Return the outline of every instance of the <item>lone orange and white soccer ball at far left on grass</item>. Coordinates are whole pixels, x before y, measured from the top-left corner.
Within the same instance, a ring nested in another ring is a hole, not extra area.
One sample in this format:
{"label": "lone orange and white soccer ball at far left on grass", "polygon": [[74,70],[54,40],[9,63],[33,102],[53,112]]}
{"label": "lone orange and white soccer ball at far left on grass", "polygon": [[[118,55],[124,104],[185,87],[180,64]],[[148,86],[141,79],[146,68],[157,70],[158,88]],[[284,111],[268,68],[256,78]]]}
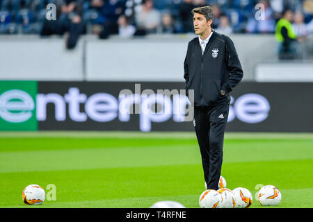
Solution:
{"label": "lone orange and white soccer ball at far left on grass", "polygon": [[41,205],[45,198],[45,190],[39,185],[29,185],[22,192],[22,200],[26,205]]}

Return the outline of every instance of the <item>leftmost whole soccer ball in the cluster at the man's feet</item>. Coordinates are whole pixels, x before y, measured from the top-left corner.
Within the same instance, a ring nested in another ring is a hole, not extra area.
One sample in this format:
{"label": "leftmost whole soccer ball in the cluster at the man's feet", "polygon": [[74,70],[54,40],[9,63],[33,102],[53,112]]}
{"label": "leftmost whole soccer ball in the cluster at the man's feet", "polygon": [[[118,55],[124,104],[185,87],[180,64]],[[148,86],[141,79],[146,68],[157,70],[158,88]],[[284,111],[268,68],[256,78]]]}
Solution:
{"label": "leftmost whole soccer ball in the cluster at the man's feet", "polygon": [[221,202],[222,196],[214,189],[203,191],[199,198],[201,208],[218,208]]}

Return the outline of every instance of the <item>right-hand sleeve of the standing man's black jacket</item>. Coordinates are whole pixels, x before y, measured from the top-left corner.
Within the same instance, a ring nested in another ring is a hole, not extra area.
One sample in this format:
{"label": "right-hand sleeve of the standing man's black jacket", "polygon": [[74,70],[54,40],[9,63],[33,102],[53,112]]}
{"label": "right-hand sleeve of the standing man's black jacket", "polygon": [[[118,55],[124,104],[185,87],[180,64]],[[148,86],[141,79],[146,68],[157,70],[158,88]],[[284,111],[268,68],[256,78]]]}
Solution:
{"label": "right-hand sleeve of the standing man's black jacket", "polygon": [[230,78],[227,78],[221,89],[224,89],[225,92],[228,93],[231,92],[232,89],[234,89],[234,87],[238,85],[243,78],[243,70],[238,58],[238,54],[236,53],[234,43],[230,37],[226,37],[225,44],[227,48],[226,63],[227,69],[230,71]]}

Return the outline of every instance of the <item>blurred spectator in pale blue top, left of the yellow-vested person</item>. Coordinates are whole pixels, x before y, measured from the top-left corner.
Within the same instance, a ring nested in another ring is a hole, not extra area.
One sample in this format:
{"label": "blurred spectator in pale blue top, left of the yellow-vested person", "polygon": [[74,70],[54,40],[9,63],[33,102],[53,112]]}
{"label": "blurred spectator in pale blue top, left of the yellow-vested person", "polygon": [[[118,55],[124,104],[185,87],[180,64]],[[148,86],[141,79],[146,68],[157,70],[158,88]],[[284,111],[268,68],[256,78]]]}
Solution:
{"label": "blurred spectator in pale blue top, left of the yellow-vested person", "polygon": [[273,11],[268,6],[268,1],[259,1],[264,5],[264,19],[255,19],[255,12],[252,13],[251,17],[248,19],[248,24],[246,26],[247,33],[274,33],[275,31],[275,20],[273,19]]}

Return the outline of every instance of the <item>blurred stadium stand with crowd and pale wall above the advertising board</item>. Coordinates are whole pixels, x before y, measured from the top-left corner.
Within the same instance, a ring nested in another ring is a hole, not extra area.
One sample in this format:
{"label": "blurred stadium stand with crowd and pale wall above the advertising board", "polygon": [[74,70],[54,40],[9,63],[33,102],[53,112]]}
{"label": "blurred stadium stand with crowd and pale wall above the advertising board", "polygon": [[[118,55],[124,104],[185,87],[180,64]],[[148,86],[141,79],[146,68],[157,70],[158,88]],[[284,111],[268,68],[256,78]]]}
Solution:
{"label": "blurred stadium stand with crowd and pale wall above the advertising board", "polygon": [[[55,21],[46,19],[49,3],[56,5]],[[265,6],[264,21],[255,19],[257,3]],[[205,5],[214,10],[216,31],[231,35],[243,80],[281,76],[268,67],[286,62],[312,76],[312,66],[303,65],[313,60],[312,0],[0,0],[0,79],[182,80],[186,44],[194,37],[191,9]],[[293,25],[304,39],[293,61],[278,59],[274,35],[286,8],[300,14]],[[125,74],[131,65],[134,73]]]}

